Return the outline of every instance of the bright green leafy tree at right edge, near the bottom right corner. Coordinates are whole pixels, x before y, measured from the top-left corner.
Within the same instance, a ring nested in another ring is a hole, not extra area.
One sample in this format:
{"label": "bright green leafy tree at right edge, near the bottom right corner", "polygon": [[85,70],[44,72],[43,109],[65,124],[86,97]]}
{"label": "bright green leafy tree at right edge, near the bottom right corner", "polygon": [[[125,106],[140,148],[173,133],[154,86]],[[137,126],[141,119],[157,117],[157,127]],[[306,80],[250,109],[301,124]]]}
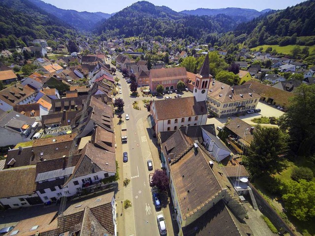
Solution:
{"label": "bright green leafy tree at right edge, near the bottom right corner", "polygon": [[283,184],[285,209],[298,220],[307,221],[315,217],[315,183],[301,179],[287,180]]}

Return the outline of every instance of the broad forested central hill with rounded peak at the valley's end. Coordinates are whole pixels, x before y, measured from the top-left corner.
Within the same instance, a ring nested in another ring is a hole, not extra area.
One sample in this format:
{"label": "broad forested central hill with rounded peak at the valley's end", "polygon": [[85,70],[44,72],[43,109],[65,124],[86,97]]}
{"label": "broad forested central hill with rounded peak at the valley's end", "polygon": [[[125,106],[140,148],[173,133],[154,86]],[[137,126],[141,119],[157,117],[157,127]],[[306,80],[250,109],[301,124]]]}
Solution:
{"label": "broad forested central hill with rounded peak at the valley's end", "polygon": [[[139,1],[117,12],[97,27],[97,33],[111,36],[167,36],[207,38],[211,33],[234,30],[243,17],[193,16],[178,13],[166,6]],[[207,40],[206,40],[207,41]],[[208,40],[209,41],[209,40]]]}

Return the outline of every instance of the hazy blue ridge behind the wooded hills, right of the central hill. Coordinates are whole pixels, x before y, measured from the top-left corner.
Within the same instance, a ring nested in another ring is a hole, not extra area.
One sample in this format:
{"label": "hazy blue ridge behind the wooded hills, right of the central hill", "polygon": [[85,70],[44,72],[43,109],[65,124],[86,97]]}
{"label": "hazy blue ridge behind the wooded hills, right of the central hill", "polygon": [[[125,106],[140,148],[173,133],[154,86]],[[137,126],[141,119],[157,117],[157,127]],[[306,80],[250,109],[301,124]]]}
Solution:
{"label": "hazy blue ridge behind the wooded hills, right of the central hill", "polygon": [[246,18],[247,21],[252,20],[255,17],[258,17],[271,9],[265,9],[262,11],[257,11],[254,9],[247,8],[238,8],[238,7],[227,7],[227,8],[219,8],[219,9],[208,9],[208,8],[197,8],[195,10],[184,10],[181,13],[188,15],[196,15],[196,16],[215,16],[219,14],[225,14],[228,16],[242,16]]}

